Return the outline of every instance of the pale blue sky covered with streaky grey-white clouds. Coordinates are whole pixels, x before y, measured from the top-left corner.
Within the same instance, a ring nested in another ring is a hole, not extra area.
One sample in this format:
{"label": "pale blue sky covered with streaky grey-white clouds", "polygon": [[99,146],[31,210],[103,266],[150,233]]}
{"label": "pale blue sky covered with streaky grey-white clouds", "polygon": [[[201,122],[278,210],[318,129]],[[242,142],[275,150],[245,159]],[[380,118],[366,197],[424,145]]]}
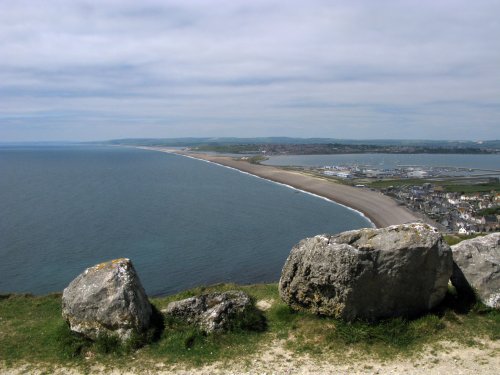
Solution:
{"label": "pale blue sky covered with streaky grey-white clouds", "polygon": [[0,0],[0,142],[500,139],[498,0]]}

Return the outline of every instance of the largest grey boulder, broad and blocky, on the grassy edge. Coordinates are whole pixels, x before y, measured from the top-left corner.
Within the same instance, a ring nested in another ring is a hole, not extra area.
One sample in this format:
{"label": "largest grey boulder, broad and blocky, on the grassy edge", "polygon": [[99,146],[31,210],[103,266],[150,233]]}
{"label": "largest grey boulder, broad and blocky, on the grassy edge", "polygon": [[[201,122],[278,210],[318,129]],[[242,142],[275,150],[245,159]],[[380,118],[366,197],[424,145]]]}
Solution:
{"label": "largest grey boulder, broad and blocky, on the grassy edge", "polygon": [[415,316],[441,302],[451,272],[451,249],[435,228],[394,225],[302,240],[279,291],[292,308],[346,320]]}

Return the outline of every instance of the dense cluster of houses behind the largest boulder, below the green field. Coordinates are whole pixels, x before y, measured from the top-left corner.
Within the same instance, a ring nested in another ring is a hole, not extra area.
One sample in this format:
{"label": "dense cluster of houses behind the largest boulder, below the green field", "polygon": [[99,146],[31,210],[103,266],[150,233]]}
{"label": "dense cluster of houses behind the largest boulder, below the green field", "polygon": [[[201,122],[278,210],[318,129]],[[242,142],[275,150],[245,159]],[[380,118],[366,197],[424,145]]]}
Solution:
{"label": "dense cluster of houses behind the largest boulder, below the green field", "polygon": [[419,211],[450,232],[472,234],[500,231],[500,193],[446,192],[442,186],[390,186],[382,189],[414,211]]}

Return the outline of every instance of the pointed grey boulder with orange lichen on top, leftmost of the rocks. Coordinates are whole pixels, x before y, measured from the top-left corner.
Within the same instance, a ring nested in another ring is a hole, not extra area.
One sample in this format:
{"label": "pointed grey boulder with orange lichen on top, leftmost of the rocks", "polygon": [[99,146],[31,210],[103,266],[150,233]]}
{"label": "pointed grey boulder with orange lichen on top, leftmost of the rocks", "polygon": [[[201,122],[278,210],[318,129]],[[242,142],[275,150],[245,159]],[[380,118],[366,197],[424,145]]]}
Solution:
{"label": "pointed grey boulder with orange lichen on top, leftmost of the rocks", "polygon": [[72,331],[91,339],[101,334],[125,340],[150,324],[151,305],[129,259],[87,268],[66,289],[62,315]]}

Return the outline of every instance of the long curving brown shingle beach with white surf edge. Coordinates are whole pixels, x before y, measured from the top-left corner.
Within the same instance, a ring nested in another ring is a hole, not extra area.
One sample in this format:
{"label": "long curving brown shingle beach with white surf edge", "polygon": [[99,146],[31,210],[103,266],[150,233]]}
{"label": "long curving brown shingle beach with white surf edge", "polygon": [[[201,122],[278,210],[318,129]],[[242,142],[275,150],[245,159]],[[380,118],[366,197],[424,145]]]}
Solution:
{"label": "long curving brown shingle beach with white surf edge", "polygon": [[191,157],[224,167],[236,169],[272,182],[326,198],[365,216],[376,227],[386,227],[395,224],[421,221],[421,218],[398,205],[382,193],[365,188],[337,184],[318,177],[308,176],[300,172],[287,171],[276,167],[251,164],[246,161],[234,160],[229,156],[189,153],[162,147],[137,147],[144,150],[173,153]]}

